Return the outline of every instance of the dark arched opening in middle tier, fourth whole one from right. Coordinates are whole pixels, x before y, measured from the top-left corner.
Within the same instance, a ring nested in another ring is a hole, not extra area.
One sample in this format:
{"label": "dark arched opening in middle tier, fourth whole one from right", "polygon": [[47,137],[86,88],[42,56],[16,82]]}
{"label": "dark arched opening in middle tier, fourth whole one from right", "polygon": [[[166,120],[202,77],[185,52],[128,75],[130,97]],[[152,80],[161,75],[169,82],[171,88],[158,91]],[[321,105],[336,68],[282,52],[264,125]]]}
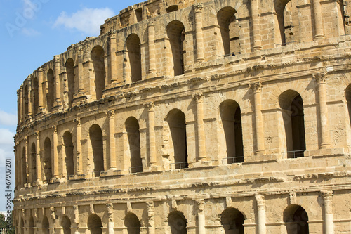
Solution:
{"label": "dark arched opening in middle tier, fourth whole one from right", "polygon": [[140,157],[140,131],[139,123],[135,117],[126,120],[129,152],[131,154],[131,173],[142,172],[143,164]]}

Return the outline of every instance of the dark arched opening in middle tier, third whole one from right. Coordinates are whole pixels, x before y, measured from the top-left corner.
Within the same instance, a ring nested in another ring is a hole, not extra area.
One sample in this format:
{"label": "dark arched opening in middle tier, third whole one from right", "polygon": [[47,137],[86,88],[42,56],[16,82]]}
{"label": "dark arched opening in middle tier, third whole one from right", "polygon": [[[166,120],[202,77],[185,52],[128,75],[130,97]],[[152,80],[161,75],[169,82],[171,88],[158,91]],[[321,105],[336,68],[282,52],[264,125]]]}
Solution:
{"label": "dark arched opening in middle tier, third whole one from right", "polygon": [[187,168],[187,130],[185,114],[179,109],[173,109],[168,112],[166,121],[171,131],[175,168]]}

